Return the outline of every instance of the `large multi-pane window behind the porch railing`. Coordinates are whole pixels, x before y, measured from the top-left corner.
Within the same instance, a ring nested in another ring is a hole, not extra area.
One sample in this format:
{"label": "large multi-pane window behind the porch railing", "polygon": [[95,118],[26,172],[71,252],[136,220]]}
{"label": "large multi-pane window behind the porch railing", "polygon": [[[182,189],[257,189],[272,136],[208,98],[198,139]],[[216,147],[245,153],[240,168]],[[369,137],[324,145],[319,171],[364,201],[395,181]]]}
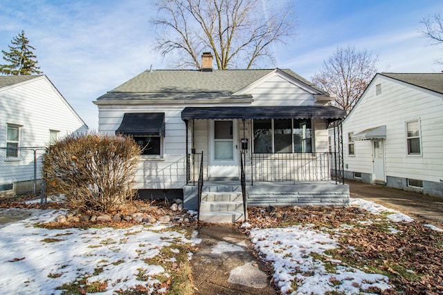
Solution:
{"label": "large multi-pane window behind the porch railing", "polygon": [[311,120],[253,120],[254,153],[312,153]]}

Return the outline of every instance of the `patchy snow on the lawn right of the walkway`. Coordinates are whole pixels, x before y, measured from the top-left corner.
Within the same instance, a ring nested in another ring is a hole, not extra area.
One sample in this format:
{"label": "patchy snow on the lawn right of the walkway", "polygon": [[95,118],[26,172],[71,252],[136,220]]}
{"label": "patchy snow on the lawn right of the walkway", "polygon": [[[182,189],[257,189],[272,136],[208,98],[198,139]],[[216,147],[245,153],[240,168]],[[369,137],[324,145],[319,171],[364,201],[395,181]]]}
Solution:
{"label": "patchy snow on the lawn right of the walkway", "polygon": [[[386,218],[392,222],[413,221],[399,211],[368,200],[352,198],[350,204],[374,214],[388,213]],[[341,228],[346,226],[342,225]],[[379,287],[381,290],[392,287],[387,276],[366,274],[359,269],[345,267],[341,265],[341,261],[328,257],[325,251],[337,247],[330,231],[314,230],[311,225],[251,229],[247,222],[240,227],[249,229],[255,250],[260,251],[260,256],[273,265],[273,280],[283,294],[364,294],[361,290],[370,287]],[[398,231],[392,228],[390,232],[396,234]],[[318,259],[320,256],[323,257],[321,260]],[[330,267],[334,268],[332,272]]]}

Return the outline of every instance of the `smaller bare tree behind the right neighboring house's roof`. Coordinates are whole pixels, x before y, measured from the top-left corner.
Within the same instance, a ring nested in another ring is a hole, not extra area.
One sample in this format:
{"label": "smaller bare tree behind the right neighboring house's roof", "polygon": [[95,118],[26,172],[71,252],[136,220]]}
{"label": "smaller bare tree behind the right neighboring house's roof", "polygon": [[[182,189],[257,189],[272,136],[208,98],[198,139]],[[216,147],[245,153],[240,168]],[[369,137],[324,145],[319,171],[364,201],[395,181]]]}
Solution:
{"label": "smaller bare tree behind the right neighboring house's roof", "polygon": [[333,106],[349,113],[366,86],[377,73],[379,56],[368,50],[357,51],[354,46],[338,47],[323,68],[311,79],[328,93],[336,96]]}

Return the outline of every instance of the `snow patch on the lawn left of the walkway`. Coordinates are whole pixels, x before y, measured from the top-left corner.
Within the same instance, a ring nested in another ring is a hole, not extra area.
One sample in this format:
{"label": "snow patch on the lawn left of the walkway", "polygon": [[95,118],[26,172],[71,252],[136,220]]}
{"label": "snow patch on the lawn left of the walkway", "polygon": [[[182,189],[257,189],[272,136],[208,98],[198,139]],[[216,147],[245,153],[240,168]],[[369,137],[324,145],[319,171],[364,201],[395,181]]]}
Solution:
{"label": "snow patch on the lawn left of the walkway", "polygon": [[[195,242],[183,233],[165,230],[165,225],[126,229],[34,226],[36,222],[52,221],[58,214],[60,211],[42,212],[0,229],[2,294],[61,294],[63,290],[57,287],[85,277],[88,282],[107,281],[107,292],[100,294],[156,283],[152,276],[165,274],[165,269],[147,265],[143,260],[156,256],[162,247],[172,243]],[[150,278],[137,280],[141,272]]]}

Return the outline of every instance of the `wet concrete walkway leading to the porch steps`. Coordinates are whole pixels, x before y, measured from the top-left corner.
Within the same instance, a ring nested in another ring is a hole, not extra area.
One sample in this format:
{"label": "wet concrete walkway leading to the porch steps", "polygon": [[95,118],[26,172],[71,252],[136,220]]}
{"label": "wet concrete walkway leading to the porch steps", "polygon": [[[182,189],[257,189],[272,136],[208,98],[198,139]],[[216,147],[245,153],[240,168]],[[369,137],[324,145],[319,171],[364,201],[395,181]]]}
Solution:
{"label": "wet concrete walkway leading to the porch steps", "polygon": [[198,238],[191,260],[196,294],[277,294],[237,225],[203,227]]}

